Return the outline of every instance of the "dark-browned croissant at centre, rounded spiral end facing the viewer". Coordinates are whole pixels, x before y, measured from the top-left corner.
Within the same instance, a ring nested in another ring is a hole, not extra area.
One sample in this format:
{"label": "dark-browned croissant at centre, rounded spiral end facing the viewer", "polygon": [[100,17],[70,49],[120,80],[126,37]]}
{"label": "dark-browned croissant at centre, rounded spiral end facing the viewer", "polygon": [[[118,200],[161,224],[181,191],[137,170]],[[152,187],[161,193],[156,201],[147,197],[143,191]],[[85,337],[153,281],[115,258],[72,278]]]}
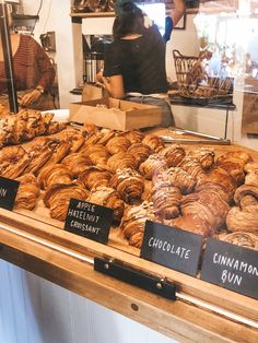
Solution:
{"label": "dark-browned croissant at centre, rounded spiral end facing the viewer", "polygon": [[133,204],[141,200],[144,191],[144,178],[134,169],[117,169],[110,179],[110,187],[118,191],[124,201]]}

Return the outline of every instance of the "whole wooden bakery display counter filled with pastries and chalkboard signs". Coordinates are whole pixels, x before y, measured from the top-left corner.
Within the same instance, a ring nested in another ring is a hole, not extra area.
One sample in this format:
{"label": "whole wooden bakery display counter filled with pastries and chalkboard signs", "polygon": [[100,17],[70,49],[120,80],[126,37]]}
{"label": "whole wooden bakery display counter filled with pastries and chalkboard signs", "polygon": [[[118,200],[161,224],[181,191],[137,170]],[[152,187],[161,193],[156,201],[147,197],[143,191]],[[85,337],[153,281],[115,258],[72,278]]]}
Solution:
{"label": "whole wooden bakery display counter filled with pastries and chalkboard signs", "polygon": [[257,342],[256,150],[4,108],[0,145],[1,259],[179,342]]}

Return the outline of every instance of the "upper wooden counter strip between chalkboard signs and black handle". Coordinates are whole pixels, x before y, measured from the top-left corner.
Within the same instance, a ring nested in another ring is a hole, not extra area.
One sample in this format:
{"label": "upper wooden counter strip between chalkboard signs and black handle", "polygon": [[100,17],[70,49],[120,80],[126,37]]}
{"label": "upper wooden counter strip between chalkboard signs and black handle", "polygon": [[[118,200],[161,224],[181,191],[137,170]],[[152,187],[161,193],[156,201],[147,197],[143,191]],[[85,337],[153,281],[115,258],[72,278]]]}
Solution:
{"label": "upper wooden counter strip between chalkboard signs and black handle", "polygon": [[127,265],[140,269],[143,272],[160,277],[167,277],[175,282],[178,289],[187,295],[214,306],[220,306],[225,310],[244,316],[250,320],[257,320],[258,318],[258,301],[253,298],[188,276],[163,265],[149,262],[126,251],[70,234],[51,225],[25,217],[24,215],[12,213],[12,216],[10,216],[10,211],[3,209],[0,209],[0,222],[19,228],[21,232],[35,235],[35,237],[42,237],[50,243],[58,244],[72,251],[78,251],[89,257],[112,258],[117,261],[126,262]]}

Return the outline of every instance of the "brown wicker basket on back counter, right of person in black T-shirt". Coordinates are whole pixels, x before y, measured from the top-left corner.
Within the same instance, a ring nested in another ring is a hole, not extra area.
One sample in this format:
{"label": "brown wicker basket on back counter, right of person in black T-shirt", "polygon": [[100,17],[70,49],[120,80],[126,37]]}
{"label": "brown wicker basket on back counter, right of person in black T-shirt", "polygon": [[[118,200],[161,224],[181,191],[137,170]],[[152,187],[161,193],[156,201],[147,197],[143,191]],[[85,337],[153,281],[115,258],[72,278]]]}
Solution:
{"label": "brown wicker basket on back counter, right of person in black T-shirt", "polygon": [[200,57],[184,56],[173,50],[179,95],[189,98],[214,98],[227,96],[232,88],[232,78],[210,78]]}

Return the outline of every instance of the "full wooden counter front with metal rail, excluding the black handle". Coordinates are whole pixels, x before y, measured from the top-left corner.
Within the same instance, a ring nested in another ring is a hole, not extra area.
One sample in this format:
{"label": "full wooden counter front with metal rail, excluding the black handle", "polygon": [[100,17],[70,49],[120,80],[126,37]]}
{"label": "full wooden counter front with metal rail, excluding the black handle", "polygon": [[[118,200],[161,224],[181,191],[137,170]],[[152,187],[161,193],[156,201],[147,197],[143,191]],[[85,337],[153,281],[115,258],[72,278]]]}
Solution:
{"label": "full wooden counter front with metal rail, excluding the black handle", "polygon": [[[251,155],[258,161],[257,152]],[[177,299],[94,271],[94,257],[166,277],[176,284]],[[26,212],[0,209],[0,258],[180,342],[258,342],[257,300],[143,260],[130,249],[64,232]]]}

